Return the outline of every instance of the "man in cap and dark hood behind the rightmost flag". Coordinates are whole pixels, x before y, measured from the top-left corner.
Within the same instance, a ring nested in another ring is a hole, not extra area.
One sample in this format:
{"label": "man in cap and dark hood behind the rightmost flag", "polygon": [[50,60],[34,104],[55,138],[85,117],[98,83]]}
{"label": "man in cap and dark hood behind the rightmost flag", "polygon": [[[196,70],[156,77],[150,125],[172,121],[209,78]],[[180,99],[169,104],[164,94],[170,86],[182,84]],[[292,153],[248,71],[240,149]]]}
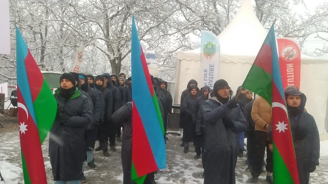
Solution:
{"label": "man in cap and dark hood behind the rightmost flag", "polygon": [[[309,184],[310,173],[316,170],[320,157],[320,137],[313,116],[304,111],[306,96],[295,88],[285,89],[290,130],[293,136],[300,184]],[[275,124],[275,122],[273,122]],[[272,150],[272,125],[269,129]]]}

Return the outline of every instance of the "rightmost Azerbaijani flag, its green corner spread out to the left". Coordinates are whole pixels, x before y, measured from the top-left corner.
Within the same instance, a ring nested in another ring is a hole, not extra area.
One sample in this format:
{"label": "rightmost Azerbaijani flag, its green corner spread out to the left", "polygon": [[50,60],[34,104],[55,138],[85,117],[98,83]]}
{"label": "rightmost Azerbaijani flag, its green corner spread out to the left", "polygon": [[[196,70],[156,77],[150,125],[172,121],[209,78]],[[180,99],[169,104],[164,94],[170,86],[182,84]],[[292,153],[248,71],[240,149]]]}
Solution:
{"label": "rightmost Azerbaijani flag, its green corner spread out to the left", "polygon": [[274,25],[271,26],[242,87],[255,92],[272,104],[274,183],[299,184]]}

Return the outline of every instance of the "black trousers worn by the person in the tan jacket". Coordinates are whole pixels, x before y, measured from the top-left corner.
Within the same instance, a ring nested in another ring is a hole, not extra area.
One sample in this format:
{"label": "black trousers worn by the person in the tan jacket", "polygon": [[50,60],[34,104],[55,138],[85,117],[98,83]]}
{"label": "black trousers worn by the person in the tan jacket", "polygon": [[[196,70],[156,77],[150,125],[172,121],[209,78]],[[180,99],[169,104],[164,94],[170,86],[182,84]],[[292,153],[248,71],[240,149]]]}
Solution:
{"label": "black trousers worn by the person in the tan jacket", "polygon": [[252,175],[260,176],[262,173],[262,160],[264,158],[265,148],[267,150],[267,165],[266,171],[271,172],[273,170],[272,152],[269,149],[268,133],[263,131],[255,131],[255,151],[252,164]]}

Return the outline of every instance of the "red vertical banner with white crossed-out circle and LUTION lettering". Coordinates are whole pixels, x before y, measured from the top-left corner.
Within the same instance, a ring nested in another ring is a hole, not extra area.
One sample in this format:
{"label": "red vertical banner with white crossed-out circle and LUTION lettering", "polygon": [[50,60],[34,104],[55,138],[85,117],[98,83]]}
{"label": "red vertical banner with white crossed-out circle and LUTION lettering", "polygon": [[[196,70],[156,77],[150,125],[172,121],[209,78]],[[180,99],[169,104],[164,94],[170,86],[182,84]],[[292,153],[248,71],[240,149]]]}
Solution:
{"label": "red vertical banner with white crossed-out circle and LUTION lettering", "polygon": [[296,86],[301,78],[301,52],[298,44],[287,38],[277,38],[282,86]]}

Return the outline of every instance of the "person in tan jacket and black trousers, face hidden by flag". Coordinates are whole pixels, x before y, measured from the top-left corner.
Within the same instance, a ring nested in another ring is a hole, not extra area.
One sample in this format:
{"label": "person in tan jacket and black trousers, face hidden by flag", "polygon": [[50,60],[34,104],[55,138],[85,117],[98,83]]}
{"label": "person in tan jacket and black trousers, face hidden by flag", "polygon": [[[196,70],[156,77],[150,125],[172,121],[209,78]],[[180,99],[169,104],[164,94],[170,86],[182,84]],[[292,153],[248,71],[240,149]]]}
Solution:
{"label": "person in tan jacket and black trousers, face hidden by flag", "polygon": [[272,151],[269,149],[268,131],[271,122],[272,108],[271,105],[262,97],[254,100],[251,116],[255,122],[255,150],[252,165],[252,183],[257,183],[258,176],[262,173],[262,160],[264,158],[265,148],[267,150],[266,180],[273,184],[272,170],[273,160]]}

